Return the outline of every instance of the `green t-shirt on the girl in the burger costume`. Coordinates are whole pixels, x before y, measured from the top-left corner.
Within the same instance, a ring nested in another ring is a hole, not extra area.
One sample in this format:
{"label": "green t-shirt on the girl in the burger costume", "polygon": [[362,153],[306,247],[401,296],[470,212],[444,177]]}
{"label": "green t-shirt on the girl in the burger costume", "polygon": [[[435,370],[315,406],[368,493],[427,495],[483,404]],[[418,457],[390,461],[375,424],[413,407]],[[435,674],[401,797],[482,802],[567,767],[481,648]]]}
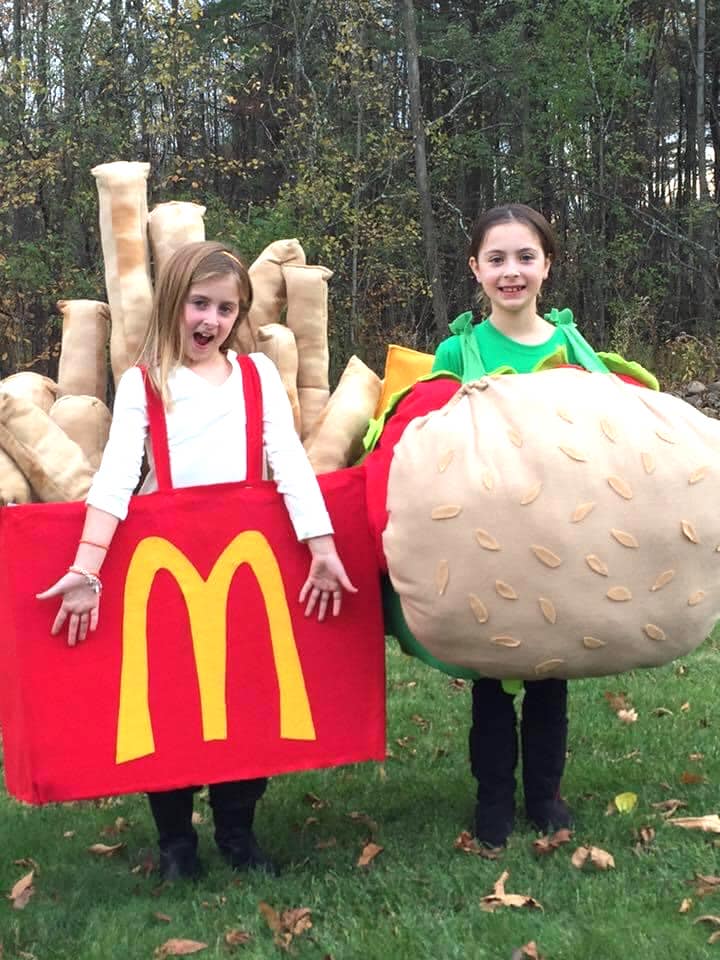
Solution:
{"label": "green t-shirt on the girl in the burger costume", "polygon": [[[472,335],[488,373],[499,367],[512,367],[515,373],[532,373],[539,363],[563,347],[567,350],[567,362],[578,362],[572,347],[568,345],[562,330],[557,326],[544,343],[532,346],[506,337],[488,319],[474,324]],[[447,370],[465,379],[464,367],[460,337],[453,336],[443,340],[435,354],[433,373]]]}

